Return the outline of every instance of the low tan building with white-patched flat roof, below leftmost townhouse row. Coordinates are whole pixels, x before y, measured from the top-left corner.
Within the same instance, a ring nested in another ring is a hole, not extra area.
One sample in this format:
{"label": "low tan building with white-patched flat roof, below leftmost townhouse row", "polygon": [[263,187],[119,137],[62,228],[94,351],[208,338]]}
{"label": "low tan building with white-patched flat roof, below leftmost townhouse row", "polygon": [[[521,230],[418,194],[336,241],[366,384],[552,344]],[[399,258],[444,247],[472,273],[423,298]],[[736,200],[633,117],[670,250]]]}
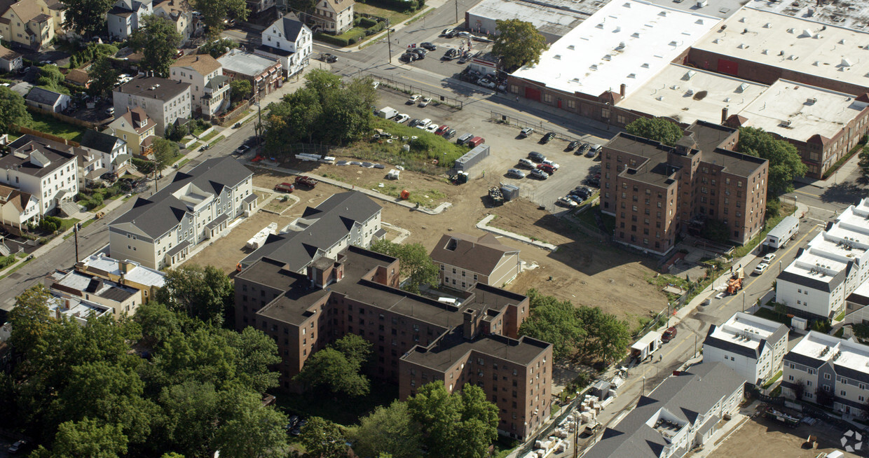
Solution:
{"label": "low tan building with white-patched flat roof, below leftmost townhouse row", "polygon": [[103,253],[91,255],[81,262],[76,262],[76,272],[95,276],[103,280],[116,282],[129,288],[142,291],[142,301],[148,302],[154,297],[157,289],[166,284],[166,274],[156,269],[149,269],[132,261],[119,261],[105,256]]}

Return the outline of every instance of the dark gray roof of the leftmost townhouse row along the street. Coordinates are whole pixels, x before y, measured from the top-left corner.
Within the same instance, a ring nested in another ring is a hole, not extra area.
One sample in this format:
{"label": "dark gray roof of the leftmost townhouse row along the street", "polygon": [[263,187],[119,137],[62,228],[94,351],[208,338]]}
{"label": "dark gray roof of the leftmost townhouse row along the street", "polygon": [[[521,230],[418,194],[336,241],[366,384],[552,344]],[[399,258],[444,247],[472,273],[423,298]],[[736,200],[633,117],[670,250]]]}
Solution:
{"label": "dark gray roof of the leftmost townhouse row along the street", "polygon": [[187,204],[173,195],[176,190],[192,183],[204,191],[219,195],[223,188],[235,187],[251,175],[249,169],[232,157],[209,159],[188,173],[176,173],[174,181],[154,196],[136,199],[133,208],[119,216],[111,226],[124,225],[125,230],[138,230],[152,238],[163,236],[181,222],[188,211]]}

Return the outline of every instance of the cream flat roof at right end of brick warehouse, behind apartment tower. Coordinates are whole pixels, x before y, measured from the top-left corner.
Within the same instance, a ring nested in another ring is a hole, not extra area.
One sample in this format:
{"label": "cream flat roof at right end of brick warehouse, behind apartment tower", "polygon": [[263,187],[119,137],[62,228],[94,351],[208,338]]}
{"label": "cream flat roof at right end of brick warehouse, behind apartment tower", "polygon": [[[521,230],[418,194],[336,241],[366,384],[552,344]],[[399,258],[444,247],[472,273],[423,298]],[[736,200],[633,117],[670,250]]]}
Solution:
{"label": "cream flat roof at right end of brick warehouse, behind apartment tower", "polygon": [[833,138],[866,106],[850,94],[780,79],[739,114],[744,126],[806,142],[816,134]]}

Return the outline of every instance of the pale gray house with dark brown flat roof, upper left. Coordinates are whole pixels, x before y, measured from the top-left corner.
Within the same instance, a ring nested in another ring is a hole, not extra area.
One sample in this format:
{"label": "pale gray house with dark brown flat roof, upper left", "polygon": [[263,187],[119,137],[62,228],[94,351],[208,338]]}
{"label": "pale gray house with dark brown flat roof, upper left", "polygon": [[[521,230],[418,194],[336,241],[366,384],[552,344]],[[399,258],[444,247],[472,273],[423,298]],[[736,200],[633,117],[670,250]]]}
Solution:
{"label": "pale gray house with dark brown flat roof, upper left", "polygon": [[138,76],[112,92],[116,113],[141,108],[156,123],[155,133],[163,136],[166,126],[190,117],[190,83],[156,76]]}

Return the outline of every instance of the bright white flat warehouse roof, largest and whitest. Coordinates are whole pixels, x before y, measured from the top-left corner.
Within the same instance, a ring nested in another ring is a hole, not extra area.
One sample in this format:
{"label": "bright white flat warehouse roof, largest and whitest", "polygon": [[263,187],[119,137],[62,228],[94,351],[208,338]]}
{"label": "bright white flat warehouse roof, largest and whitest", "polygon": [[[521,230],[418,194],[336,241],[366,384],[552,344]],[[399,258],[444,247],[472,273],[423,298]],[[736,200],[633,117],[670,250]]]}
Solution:
{"label": "bright white flat warehouse roof, largest and whitest", "polygon": [[[614,0],[514,76],[599,96],[640,87],[720,23],[718,17],[639,0]],[[651,52],[650,52],[651,51]]]}

